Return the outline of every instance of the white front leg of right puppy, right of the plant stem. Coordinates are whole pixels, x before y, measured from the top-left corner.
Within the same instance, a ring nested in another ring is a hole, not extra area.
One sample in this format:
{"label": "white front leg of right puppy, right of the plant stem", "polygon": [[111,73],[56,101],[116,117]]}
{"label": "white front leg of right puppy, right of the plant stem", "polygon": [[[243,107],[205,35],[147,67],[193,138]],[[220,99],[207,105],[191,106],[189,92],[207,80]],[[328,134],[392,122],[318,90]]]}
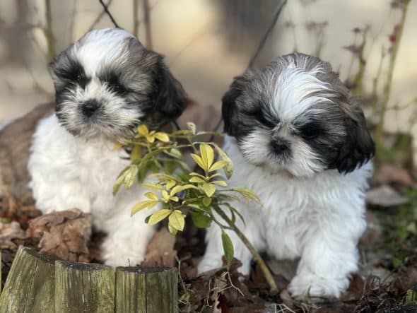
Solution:
{"label": "white front leg of right puppy, right of the plant stem", "polygon": [[288,290],[297,298],[340,297],[349,285],[349,275],[358,269],[356,244],[365,220],[320,220],[310,228],[297,274]]}

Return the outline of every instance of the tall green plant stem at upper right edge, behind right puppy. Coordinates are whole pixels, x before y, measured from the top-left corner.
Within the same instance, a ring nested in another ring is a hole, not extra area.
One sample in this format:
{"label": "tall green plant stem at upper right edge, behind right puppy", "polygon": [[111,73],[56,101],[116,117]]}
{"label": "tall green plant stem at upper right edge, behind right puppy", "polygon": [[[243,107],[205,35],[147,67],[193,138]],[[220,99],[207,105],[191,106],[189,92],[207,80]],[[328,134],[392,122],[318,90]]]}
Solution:
{"label": "tall green plant stem at upper right edge, behind right puppy", "polygon": [[388,77],[387,77],[387,82],[384,85],[384,93],[383,93],[384,99],[380,107],[380,116],[378,119],[377,127],[375,129],[375,139],[376,141],[379,141],[380,143],[382,142],[382,134],[384,132],[385,113],[387,112],[389,95],[391,94],[392,76],[394,74],[395,61],[397,59],[399,44],[401,42],[401,37],[402,37],[403,30],[404,30],[404,24],[406,23],[406,15],[407,15],[410,1],[411,0],[404,1],[404,7],[402,8],[402,14],[401,14],[401,20],[399,21],[399,24],[398,24],[399,30],[398,30],[397,38],[392,44],[391,56],[389,57]]}

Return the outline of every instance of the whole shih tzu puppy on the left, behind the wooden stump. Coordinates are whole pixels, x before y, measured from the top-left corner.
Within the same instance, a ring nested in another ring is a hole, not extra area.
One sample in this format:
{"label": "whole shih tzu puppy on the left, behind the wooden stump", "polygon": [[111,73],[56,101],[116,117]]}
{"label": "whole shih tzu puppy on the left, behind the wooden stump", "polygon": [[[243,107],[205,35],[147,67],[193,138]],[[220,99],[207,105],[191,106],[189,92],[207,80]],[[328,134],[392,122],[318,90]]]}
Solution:
{"label": "whole shih tzu puppy on the left, behind the wooden stump", "polygon": [[112,195],[129,155],[114,143],[139,124],[158,126],[178,117],[185,93],[160,54],[122,29],[92,30],[49,66],[56,112],[33,136],[28,169],[37,208],[44,213],[79,208],[107,232],[102,257],[112,266],[143,261],[154,228],[149,212],[133,217],[144,190],[134,184]]}

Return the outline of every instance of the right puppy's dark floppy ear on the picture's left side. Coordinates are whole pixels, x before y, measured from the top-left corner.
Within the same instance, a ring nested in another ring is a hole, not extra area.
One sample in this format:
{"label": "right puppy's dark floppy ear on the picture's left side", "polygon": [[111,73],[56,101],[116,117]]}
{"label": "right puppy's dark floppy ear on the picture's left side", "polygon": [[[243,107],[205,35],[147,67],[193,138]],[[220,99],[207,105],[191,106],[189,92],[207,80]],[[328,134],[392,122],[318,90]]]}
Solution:
{"label": "right puppy's dark floppy ear on the picture's left side", "polygon": [[247,85],[254,76],[252,70],[247,70],[242,76],[233,78],[233,83],[227,93],[221,98],[221,114],[224,122],[224,132],[230,136],[235,136],[236,121],[236,99],[242,94]]}

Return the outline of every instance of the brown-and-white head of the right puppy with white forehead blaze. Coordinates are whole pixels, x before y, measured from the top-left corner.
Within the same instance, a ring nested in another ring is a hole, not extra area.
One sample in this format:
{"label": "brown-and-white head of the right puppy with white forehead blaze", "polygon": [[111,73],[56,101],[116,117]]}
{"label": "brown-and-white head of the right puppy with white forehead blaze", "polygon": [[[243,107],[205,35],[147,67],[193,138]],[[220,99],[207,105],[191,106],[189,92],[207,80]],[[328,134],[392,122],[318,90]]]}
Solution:
{"label": "brown-and-white head of the right puppy with white forehead blaze", "polygon": [[254,165],[312,177],[351,172],[375,153],[362,110],[331,66],[288,54],[235,78],[223,96],[225,131]]}

